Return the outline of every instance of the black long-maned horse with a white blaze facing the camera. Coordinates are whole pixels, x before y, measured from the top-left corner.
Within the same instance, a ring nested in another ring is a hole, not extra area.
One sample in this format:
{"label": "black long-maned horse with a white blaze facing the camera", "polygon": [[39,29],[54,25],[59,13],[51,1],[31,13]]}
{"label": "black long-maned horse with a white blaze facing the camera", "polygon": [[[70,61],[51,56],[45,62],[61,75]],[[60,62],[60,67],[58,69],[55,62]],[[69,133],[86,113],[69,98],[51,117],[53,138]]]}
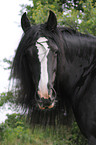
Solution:
{"label": "black long-maned horse with a white blaze facing the camera", "polygon": [[24,13],[21,26],[12,67],[17,102],[42,124],[63,121],[70,106],[89,145],[96,145],[96,37],[57,27],[52,11],[46,23],[34,26]]}

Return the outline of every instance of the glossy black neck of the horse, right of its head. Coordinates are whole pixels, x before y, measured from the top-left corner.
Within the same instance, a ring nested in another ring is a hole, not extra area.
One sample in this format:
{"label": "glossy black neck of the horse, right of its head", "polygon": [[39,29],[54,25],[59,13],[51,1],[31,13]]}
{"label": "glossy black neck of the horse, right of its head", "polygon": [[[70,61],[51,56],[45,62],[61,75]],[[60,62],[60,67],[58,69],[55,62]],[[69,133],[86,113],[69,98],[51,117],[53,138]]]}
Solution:
{"label": "glossy black neck of the horse, right of its head", "polygon": [[96,67],[96,38],[85,35],[66,35],[63,38],[64,57],[59,67],[59,83],[67,95],[74,96],[77,87],[85,84]]}

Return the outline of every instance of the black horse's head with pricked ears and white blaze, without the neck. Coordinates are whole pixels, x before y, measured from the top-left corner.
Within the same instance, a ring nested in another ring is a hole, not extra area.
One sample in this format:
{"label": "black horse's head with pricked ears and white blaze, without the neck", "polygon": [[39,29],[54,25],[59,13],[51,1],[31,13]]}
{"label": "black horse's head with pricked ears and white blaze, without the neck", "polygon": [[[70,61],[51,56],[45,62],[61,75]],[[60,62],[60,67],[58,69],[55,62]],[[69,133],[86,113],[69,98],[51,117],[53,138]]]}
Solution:
{"label": "black horse's head with pricked ears and white blaze, without the neck", "polygon": [[56,103],[57,59],[61,45],[56,16],[50,11],[46,23],[31,26],[24,13],[21,26],[24,36],[13,61],[14,78],[19,78],[24,92],[21,102],[28,100],[29,94],[30,101],[34,97],[40,109],[51,109]]}

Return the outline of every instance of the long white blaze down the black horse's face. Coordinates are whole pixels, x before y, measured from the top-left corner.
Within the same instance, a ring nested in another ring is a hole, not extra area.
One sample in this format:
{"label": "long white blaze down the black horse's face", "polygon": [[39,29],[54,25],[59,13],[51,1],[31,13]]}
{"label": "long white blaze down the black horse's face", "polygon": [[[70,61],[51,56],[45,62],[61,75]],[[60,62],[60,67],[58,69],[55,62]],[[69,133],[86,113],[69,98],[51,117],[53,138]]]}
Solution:
{"label": "long white blaze down the black horse's face", "polygon": [[38,49],[38,58],[41,63],[41,75],[38,89],[42,92],[43,95],[48,93],[48,71],[47,71],[47,56],[49,53],[49,48],[47,44],[47,39],[45,37],[41,37],[37,40],[36,47]]}

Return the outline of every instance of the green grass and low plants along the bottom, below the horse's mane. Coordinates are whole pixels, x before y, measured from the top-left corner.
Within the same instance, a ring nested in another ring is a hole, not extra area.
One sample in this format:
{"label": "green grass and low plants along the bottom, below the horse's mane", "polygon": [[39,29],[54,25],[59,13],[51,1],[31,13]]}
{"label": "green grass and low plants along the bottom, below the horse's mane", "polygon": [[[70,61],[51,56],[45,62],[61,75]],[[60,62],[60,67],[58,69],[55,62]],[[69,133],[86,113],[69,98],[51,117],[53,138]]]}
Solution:
{"label": "green grass and low plants along the bottom, below the horse's mane", "polygon": [[44,129],[26,123],[23,115],[7,115],[8,119],[0,125],[1,145],[87,145],[76,123],[72,129],[66,126]]}

